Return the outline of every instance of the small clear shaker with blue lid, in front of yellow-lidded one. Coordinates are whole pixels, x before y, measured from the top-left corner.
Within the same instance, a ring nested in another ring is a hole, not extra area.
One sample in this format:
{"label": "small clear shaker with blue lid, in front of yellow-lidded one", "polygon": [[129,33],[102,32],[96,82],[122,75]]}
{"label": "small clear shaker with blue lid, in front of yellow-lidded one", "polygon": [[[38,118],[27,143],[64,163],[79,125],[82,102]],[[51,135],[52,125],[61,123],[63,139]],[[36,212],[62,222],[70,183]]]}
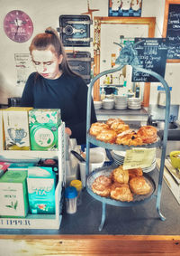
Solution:
{"label": "small clear shaker with blue lid, in front of yellow-lidded one", "polygon": [[67,186],[65,190],[65,198],[66,198],[67,213],[69,214],[76,213],[76,199],[77,199],[76,187]]}

